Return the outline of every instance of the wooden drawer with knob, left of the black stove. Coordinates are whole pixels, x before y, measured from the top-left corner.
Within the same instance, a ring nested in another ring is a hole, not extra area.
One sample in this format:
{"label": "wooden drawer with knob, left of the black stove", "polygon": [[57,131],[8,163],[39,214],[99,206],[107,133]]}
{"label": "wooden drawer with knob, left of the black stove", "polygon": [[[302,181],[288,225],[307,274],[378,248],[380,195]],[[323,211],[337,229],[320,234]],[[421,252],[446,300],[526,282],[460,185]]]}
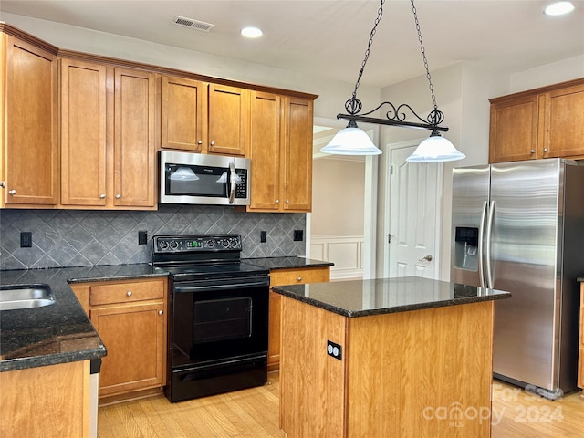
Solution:
{"label": "wooden drawer with knob, left of the black stove", "polygon": [[164,279],[148,281],[129,281],[114,284],[103,283],[91,286],[89,304],[131,303],[146,299],[162,299],[164,297]]}

